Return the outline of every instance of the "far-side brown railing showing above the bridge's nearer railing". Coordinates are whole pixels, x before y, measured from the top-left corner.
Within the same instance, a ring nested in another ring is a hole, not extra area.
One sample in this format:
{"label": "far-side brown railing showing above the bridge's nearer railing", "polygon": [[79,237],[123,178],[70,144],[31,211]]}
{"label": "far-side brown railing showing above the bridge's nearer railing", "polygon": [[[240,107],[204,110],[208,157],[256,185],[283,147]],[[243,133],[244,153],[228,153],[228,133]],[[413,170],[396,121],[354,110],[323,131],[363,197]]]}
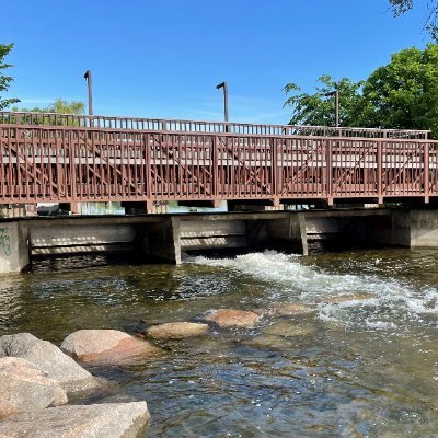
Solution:
{"label": "far-side brown railing showing above the bridge's nearer railing", "polygon": [[415,129],[374,129],[354,127],[253,125],[244,123],[171,120],[138,117],[88,116],[57,113],[0,112],[0,125],[71,126],[127,130],[169,130],[176,132],[301,135],[324,137],[414,138],[427,139],[430,131]]}

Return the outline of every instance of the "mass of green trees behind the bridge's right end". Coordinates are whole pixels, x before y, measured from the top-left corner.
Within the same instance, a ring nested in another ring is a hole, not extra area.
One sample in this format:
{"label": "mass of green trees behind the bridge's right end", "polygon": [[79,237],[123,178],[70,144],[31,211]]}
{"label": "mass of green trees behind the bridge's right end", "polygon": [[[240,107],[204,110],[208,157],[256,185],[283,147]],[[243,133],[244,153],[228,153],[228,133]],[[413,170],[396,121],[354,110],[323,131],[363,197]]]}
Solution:
{"label": "mass of green trees behind the bridge's right end", "polygon": [[392,55],[364,81],[323,76],[313,94],[290,83],[285,87],[286,93],[295,93],[285,103],[292,107],[290,124],[333,125],[334,102],[325,94],[337,89],[342,126],[430,129],[438,138],[437,66],[438,45],[429,44]]}

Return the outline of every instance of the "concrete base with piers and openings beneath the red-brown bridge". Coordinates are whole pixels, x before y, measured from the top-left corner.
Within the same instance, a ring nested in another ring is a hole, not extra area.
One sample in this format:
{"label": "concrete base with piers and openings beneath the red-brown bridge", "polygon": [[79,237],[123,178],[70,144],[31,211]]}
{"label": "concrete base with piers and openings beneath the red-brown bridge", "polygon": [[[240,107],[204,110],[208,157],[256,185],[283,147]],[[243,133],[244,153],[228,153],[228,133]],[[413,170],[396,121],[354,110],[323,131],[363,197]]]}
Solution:
{"label": "concrete base with piers and openings beneath the red-brown bridge", "polygon": [[438,247],[438,210],[312,210],[68,217],[0,223],[0,273],[20,272],[33,254],[140,251],[181,263],[191,250],[278,247],[307,254],[312,240]]}

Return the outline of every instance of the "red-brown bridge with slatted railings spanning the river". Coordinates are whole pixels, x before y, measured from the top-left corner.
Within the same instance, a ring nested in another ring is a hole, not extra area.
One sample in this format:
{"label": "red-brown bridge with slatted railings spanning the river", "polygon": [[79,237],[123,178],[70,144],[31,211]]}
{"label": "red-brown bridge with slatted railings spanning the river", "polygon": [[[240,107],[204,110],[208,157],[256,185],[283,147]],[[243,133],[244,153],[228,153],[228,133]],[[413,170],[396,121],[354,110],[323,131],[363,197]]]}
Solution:
{"label": "red-brown bridge with slatted railings spanning the river", "polygon": [[0,204],[438,196],[425,130],[0,112]]}

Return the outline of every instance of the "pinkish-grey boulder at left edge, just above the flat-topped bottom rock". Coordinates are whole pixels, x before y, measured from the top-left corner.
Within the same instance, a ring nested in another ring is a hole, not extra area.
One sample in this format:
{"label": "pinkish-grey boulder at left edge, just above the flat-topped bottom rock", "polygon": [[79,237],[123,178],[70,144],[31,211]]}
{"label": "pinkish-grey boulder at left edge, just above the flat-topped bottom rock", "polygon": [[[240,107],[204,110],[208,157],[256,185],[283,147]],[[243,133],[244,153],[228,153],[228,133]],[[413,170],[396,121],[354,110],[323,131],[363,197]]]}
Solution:
{"label": "pinkish-grey boulder at left edge, just above the flat-topped bottom rock", "polygon": [[34,365],[19,357],[0,358],[0,418],[67,403],[66,391]]}

